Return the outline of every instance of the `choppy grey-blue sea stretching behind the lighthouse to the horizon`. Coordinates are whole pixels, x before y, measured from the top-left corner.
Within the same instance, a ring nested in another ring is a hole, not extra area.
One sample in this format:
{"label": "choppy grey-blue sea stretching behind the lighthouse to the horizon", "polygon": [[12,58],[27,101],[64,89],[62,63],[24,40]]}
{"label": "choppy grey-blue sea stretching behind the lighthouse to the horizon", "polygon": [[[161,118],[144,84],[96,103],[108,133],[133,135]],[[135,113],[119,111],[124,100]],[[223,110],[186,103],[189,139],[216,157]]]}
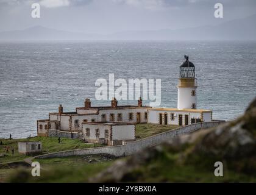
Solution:
{"label": "choppy grey-blue sea stretching behind the lighthouse to the horizon", "polygon": [[[256,43],[231,41],[76,41],[0,43],[0,137],[34,136],[37,119],[94,99],[95,81],[162,79],[162,107],[177,107],[183,55],[196,66],[197,107],[214,119],[243,114],[256,96]],[[137,101],[119,102],[137,104]],[[93,101],[109,105],[109,101]]]}

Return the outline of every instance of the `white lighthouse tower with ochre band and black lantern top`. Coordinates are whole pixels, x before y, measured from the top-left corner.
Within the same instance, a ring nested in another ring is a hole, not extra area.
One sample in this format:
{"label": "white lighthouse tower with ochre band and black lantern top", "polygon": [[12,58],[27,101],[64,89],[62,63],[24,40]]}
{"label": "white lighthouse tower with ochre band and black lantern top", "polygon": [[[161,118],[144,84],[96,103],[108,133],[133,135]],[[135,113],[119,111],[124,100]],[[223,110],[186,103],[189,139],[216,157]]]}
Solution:
{"label": "white lighthouse tower with ochre band and black lantern top", "polygon": [[180,66],[178,85],[178,109],[196,109],[196,77],[194,64],[185,55],[185,62]]}

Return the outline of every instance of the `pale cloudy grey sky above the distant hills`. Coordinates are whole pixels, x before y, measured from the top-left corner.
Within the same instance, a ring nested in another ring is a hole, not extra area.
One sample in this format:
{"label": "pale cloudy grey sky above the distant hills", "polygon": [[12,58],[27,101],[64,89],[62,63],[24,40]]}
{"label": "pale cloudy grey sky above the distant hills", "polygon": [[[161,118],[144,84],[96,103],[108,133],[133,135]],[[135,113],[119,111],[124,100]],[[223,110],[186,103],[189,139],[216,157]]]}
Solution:
{"label": "pale cloudy grey sky above the distant hills", "polygon": [[[40,4],[40,18],[31,17],[35,2]],[[214,16],[218,2],[224,18]],[[44,26],[112,34],[216,25],[255,13],[255,0],[0,0],[0,31]]]}

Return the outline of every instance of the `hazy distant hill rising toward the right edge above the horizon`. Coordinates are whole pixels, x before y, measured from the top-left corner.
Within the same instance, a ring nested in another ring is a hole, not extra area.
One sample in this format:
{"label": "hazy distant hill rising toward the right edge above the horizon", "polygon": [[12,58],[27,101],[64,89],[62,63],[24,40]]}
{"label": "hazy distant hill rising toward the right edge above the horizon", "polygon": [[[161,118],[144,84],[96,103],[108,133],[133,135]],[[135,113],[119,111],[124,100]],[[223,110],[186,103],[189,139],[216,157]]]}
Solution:
{"label": "hazy distant hill rising toward the right edge above the horizon", "polygon": [[111,35],[116,39],[140,40],[256,40],[256,14],[233,19],[217,26],[199,26],[177,30],[129,31]]}

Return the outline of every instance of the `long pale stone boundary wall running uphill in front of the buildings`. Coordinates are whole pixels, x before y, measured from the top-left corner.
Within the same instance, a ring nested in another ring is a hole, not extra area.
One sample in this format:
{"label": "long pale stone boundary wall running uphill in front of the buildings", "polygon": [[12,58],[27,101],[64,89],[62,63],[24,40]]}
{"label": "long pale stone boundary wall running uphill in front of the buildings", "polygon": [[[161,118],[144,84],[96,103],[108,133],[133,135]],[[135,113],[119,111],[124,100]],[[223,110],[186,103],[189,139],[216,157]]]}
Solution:
{"label": "long pale stone boundary wall running uphill in front of the buildings", "polygon": [[76,149],[72,151],[55,152],[51,154],[40,155],[35,158],[54,158],[54,157],[68,157],[73,155],[88,155],[88,154],[110,154],[116,157],[124,155],[131,155],[135,152],[141,151],[146,147],[155,146],[157,144],[168,141],[171,138],[177,137],[182,134],[191,133],[199,129],[207,129],[221,124],[223,121],[201,122],[191,124],[189,126],[180,127],[175,130],[169,130],[157,135],[137,141],[123,142],[121,146],[107,146],[107,147],[94,147],[87,149]]}

